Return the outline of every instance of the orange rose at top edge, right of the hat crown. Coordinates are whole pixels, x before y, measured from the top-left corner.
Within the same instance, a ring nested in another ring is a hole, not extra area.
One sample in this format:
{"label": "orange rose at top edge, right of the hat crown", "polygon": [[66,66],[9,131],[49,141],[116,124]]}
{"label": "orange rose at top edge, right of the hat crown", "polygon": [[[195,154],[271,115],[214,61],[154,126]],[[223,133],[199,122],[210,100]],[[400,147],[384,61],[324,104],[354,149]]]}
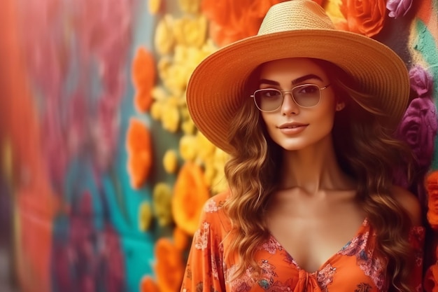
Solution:
{"label": "orange rose at top edge, right of the hat crown", "polygon": [[386,1],[342,0],[341,13],[346,22],[339,22],[340,29],[375,36],[379,34],[385,22]]}

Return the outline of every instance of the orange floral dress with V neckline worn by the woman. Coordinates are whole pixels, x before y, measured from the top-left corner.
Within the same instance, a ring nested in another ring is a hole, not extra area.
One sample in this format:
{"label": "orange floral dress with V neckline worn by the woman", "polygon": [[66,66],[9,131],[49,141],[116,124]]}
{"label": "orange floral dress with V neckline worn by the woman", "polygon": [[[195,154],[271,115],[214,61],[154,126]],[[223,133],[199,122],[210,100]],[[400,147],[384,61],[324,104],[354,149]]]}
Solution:
{"label": "orange floral dress with V neckline worn by the woman", "polygon": [[[387,291],[386,267],[374,255],[375,233],[367,220],[354,237],[329,258],[316,272],[306,272],[294,258],[270,236],[255,253],[262,267],[257,281],[249,274],[232,279],[236,270],[224,258],[230,229],[229,218],[222,211],[227,193],[216,195],[204,206],[198,230],[193,237],[181,292],[374,292]],[[224,240],[225,239],[225,240]],[[422,267],[425,229],[411,228],[409,242],[415,252],[411,276],[413,291],[423,291]]]}

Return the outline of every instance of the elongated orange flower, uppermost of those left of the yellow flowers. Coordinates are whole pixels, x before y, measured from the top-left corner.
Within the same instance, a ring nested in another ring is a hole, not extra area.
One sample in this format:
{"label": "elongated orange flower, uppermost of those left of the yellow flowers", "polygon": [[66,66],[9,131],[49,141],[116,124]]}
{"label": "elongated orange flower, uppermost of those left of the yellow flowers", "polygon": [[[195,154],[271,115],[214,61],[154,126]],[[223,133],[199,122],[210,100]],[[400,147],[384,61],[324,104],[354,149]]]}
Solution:
{"label": "elongated orange flower, uppermost of those left of the yellow flowers", "polygon": [[140,112],[149,111],[152,104],[151,90],[155,84],[157,71],[155,60],[146,48],[139,48],[132,62],[132,83],[136,89],[134,105]]}

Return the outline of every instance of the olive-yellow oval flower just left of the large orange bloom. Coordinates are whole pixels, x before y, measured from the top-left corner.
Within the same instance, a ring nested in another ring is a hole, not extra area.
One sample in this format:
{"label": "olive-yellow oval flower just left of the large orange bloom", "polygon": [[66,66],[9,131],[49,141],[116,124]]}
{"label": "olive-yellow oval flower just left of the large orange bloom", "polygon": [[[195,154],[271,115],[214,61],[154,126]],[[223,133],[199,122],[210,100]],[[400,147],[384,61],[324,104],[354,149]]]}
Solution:
{"label": "olive-yellow oval flower just left of the large orange bloom", "polygon": [[158,225],[165,226],[172,222],[172,190],[166,183],[157,183],[153,189],[153,210]]}

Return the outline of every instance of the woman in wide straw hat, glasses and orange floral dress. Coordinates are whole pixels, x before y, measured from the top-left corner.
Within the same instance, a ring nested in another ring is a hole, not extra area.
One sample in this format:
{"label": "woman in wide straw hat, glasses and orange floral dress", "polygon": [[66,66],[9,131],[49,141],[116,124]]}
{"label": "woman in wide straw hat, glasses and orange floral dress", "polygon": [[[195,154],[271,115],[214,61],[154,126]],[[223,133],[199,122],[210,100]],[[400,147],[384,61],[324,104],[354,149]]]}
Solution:
{"label": "woman in wide straw hat, glasses and orange floral dress", "polygon": [[188,108],[231,155],[229,191],[204,207],[181,291],[421,291],[421,208],[392,185],[408,100],[402,60],[313,1],[206,58]]}

